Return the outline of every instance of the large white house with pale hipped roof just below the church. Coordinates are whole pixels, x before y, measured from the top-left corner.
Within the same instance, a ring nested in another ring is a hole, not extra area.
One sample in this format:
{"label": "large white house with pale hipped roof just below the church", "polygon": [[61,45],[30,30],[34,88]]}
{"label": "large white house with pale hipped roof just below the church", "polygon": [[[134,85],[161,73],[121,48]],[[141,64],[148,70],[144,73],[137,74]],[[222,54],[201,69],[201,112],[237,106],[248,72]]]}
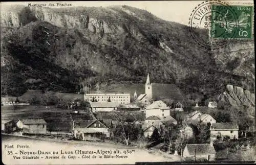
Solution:
{"label": "large white house with pale hipped roof just below the church", "polygon": [[169,116],[170,109],[163,101],[155,101],[146,107],[146,117],[154,115],[158,117]]}

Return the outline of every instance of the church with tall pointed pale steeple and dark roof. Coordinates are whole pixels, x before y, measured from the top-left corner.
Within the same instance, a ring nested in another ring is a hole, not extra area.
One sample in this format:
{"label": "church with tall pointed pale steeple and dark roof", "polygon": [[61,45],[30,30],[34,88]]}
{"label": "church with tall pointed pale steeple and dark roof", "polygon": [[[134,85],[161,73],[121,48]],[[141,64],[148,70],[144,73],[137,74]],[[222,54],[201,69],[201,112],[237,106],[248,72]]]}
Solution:
{"label": "church with tall pointed pale steeple and dark roof", "polygon": [[143,104],[148,104],[148,100],[156,101],[162,99],[173,99],[181,102],[184,100],[184,96],[175,84],[151,83],[150,74],[147,74],[145,93],[142,93],[137,97],[137,93],[135,91],[134,99]]}

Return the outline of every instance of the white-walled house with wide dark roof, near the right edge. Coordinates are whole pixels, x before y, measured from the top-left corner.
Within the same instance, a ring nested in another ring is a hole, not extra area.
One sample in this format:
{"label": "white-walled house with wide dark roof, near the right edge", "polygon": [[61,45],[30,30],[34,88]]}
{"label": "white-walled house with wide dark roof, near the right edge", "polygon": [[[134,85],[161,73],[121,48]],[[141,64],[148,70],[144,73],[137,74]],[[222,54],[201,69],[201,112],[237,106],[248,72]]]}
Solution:
{"label": "white-walled house with wide dark roof, near the right edge", "polygon": [[239,127],[236,123],[212,123],[210,127],[211,139],[217,139],[217,136],[228,136],[232,139],[238,139]]}

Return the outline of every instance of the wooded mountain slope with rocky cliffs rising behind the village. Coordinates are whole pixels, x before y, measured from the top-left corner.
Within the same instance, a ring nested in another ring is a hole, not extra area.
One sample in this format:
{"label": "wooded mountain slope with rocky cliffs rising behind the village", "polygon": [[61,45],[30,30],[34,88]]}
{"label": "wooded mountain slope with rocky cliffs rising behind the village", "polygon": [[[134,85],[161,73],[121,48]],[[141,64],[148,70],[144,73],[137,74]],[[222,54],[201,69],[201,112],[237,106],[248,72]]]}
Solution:
{"label": "wooded mountain slope with rocky cliffs rising behind the village", "polygon": [[[207,37],[205,30],[192,33]],[[230,41],[226,49],[210,52],[190,37],[187,26],[129,6],[6,7],[2,94],[75,92],[89,77],[106,84],[144,83],[147,73],[156,83],[178,85],[185,95],[215,96],[226,83],[254,90],[253,49],[253,41]]]}

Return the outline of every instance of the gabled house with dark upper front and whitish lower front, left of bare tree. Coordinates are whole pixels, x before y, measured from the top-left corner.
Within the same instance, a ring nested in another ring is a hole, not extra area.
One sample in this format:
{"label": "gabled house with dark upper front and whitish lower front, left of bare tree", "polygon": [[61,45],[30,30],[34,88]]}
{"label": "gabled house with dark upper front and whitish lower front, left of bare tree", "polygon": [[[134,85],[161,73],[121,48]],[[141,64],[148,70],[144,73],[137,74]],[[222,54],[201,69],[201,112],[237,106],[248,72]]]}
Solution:
{"label": "gabled house with dark upper front and whitish lower front, left of bare tree", "polygon": [[75,126],[74,137],[80,140],[101,140],[110,137],[109,127],[99,120],[88,121],[83,126]]}

